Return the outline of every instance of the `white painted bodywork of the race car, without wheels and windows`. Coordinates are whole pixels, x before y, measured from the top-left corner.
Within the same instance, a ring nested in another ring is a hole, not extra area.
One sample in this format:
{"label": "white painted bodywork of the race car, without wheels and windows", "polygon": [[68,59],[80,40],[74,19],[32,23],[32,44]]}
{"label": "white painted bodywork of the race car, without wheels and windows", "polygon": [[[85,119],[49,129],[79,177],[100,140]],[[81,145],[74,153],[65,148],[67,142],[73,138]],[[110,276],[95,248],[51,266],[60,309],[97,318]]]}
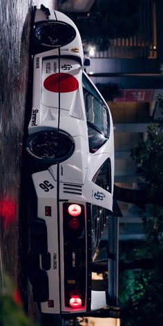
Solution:
{"label": "white painted bodywork of the race car, without wheels and windows", "polygon": [[[48,303],[41,303],[41,311],[50,314],[59,314],[59,312],[71,311],[73,309],[65,309],[64,307],[64,262],[63,262],[63,221],[62,221],[62,202],[81,203],[86,206],[86,202],[91,204],[99,204],[94,194],[102,191],[105,195],[104,200],[100,201],[100,206],[112,211],[113,208],[113,180],[114,180],[114,142],[113,142],[113,122],[111,113],[108,108],[108,114],[111,122],[111,131],[108,141],[99,150],[91,154],[88,148],[88,129],[86,123],[86,111],[84,107],[84,95],[81,77],[84,73],[81,66],[84,62],[84,53],[81,44],[81,37],[77,27],[66,15],[61,12],[50,12],[50,19],[65,21],[73,26],[77,32],[75,39],[68,45],[60,49],[48,50],[39,53],[33,58],[33,97],[32,97],[32,113],[35,115],[35,123],[32,122],[28,126],[28,133],[36,133],[44,129],[58,128],[66,131],[75,142],[75,151],[68,160],[50,166],[46,171],[34,173],[32,180],[37,193],[37,212],[38,217],[46,221],[48,229],[48,252],[51,259],[54,253],[57,255],[57,269],[50,268],[47,271],[49,280],[50,299],[54,300],[55,307],[49,308]],[[46,20],[44,12],[37,10],[35,22]],[[79,52],[73,52],[73,48],[78,48]],[[60,59],[57,57],[60,55]],[[65,57],[61,57],[64,56]],[[68,58],[67,56],[72,56]],[[81,59],[81,64],[75,59]],[[39,63],[39,65],[38,65]],[[46,64],[50,63],[50,70],[46,71]],[[45,79],[56,73],[62,72],[61,66],[68,64],[72,66],[66,73],[75,77],[79,83],[79,88],[70,93],[50,92],[44,88]],[[52,67],[55,65],[55,72]],[[59,68],[60,65],[60,68]],[[90,81],[92,83],[92,81]],[[92,83],[93,84],[93,83]],[[94,86],[95,87],[95,86]],[[98,90],[97,90],[97,93]],[[101,96],[101,95],[100,95]],[[107,106],[107,104],[106,104]],[[110,157],[111,173],[112,173],[112,193],[108,193],[104,189],[93,183],[92,179],[99,167]],[[58,171],[57,171],[58,169]],[[41,189],[39,184],[44,180],[48,180],[54,188],[48,192]],[[57,182],[59,184],[57,185]],[[74,193],[64,193],[64,184],[68,183],[73,186],[77,184],[81,186],[81,195]],[[59,191],[59,193],[57,193]],[[57,200],[60,204],[57,207]],[[45,207],[52,207],[52,216],[45,217]],[[59,209],[59,211],[58,211]],[[59,214],[59,222],[57,216]],[[60,262],[59,262],[60,257]],[[52,266],[52,261],[51,261]],[[61,291],[59,287],[61,286]],[[59,304],[59,296],[61,294],[61,307]],[[83,311],[86,311],[83,310]],[[73,311],[74,312],[74,311]],[[77,312],[77,310],[75,311]]]}

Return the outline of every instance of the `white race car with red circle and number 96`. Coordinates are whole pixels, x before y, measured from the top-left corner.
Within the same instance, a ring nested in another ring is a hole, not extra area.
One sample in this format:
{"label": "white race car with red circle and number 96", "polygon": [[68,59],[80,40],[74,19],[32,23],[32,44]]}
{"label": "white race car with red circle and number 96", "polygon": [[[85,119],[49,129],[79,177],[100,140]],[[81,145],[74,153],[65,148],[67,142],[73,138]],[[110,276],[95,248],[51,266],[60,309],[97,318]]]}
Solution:
{"label": "white race car with red circle and number 96", "polygon": [[113,211],[113,122],[66,15],[35,8],[32,58],[28,274],[41,312],[79,314],[93,307],[91,262]]}

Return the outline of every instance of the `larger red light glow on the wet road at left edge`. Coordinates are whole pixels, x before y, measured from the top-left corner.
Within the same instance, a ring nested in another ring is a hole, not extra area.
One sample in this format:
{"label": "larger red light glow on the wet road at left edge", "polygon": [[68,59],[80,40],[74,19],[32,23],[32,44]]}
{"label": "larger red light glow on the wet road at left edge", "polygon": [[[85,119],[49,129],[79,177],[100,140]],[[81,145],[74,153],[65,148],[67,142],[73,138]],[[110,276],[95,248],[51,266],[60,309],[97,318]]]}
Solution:
{"label": "larger red light glow on the wet road at left edge", "polygon": [[4,229],[15,222],[16,204],[12,199],[0,200],[0,219],[3,221]]}

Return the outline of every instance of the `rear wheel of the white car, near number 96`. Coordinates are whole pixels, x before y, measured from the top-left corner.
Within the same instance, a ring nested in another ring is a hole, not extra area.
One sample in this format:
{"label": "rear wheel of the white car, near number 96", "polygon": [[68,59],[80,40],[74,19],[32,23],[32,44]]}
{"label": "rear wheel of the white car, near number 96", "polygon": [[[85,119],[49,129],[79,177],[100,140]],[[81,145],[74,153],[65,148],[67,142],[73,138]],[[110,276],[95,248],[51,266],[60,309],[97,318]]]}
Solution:
{"label": "rear wheel of the white car, near number 96", "polygon": [[32,163],[47,168],[67,160],[73,154],[73,138],[64,131],[48,130],[32,133],[28,136],[26,150]]}

